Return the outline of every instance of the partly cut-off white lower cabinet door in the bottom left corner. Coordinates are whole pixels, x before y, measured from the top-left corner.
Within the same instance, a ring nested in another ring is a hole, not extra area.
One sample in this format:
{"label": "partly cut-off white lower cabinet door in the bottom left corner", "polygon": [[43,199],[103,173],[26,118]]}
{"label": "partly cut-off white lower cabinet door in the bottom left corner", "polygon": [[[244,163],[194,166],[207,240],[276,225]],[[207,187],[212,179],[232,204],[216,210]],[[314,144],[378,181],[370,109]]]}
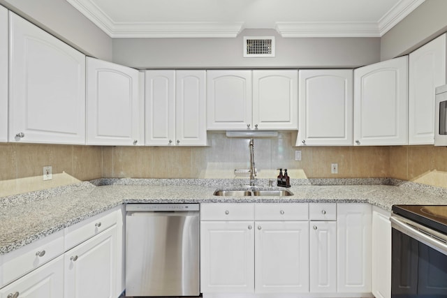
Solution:
{"label": "partly cut-off white lower cabinet door in the bottom left corner", "polygon": [[64,256],[22,276],[0,289],[0,298],[60,298],[64,297]]}

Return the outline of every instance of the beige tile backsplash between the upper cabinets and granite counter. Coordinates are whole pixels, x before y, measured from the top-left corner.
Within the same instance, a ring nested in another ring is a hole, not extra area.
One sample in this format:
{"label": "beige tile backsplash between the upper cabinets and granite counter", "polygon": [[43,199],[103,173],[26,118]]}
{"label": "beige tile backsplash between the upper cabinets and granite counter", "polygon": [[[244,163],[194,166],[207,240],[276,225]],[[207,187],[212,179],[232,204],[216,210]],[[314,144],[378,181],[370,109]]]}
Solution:
{"label": "beige tile backsplash between the upper cabinets and granite counter", "polygon": [[[0,196],[73,184],[101,177],[233,178],[249,168],[249,139],[208,133],[208,147],[96,147],[49,144],[0,144]],[[295,161],[295,151],[302,160]],[[295,147],[294,133],[254,140],[258,177],[391,177],[447,187],[447,148]],[[330,164],[338,164],[331,174]],[[43,181],[43,166],[53,179]]]}

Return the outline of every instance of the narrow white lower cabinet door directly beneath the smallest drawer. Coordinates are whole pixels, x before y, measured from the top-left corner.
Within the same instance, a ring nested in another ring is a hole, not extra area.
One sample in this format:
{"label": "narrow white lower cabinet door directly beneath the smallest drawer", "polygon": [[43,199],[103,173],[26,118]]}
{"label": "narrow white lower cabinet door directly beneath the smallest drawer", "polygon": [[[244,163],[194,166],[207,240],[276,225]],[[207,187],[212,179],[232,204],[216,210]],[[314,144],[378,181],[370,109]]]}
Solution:
{"label": "narrow white lower cabinet door directly beneath the smallest drawer", "polygon": [[311,221],[309,247],[310,292],[337,292],[337,223]]}

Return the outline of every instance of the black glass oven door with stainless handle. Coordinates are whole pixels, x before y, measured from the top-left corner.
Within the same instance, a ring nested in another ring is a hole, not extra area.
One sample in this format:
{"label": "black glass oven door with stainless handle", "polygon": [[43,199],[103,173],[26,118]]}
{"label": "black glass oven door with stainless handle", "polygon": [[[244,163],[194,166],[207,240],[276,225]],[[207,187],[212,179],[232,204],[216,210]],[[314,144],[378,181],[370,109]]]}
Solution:
{"label": "black glass oven door with stainless handle", "polygon": [[390,218],[391,297],[447,298],[447,237],[402,216]]}

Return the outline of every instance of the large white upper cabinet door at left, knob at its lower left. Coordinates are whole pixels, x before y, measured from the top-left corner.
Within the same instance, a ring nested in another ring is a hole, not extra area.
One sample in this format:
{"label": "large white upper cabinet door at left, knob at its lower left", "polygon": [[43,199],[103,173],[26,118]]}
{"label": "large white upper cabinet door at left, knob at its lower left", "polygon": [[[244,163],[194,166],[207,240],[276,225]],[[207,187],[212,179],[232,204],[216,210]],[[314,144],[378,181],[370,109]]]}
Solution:
{"label": "large white upper cabinet door at left, knob at its lower left", "polygon": [[85,144],[85,55],[9,17],[9,141]]}

